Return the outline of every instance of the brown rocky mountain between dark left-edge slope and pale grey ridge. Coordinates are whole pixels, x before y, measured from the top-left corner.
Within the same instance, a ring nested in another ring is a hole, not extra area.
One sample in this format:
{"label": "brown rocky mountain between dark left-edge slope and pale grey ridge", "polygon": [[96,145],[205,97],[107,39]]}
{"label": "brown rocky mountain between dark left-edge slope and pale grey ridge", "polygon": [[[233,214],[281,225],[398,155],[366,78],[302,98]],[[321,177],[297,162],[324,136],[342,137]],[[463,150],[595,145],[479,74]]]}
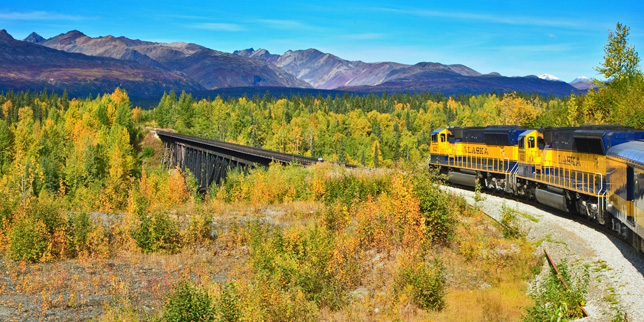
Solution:
{"label": "brown rocky mountain between dark left-edge slope and pale grey ridge", "polygon": [[156,43],[126,37],[88,37],[70,31],[40,43],[70,53],[136,61],[183,73],[205,89],[245,86],[311,87],[273,64],[196,44]]}

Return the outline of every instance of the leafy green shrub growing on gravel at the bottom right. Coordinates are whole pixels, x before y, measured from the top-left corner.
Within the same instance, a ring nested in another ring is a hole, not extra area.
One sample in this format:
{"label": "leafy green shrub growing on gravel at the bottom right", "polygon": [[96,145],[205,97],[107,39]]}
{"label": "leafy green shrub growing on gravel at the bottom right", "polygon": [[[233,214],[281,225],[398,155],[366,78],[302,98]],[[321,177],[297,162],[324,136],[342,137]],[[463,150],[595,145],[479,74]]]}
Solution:
{"label": "leafy green shrub growing on gravel at the bottom right", "polygon": [[588,288],[588,270],[584,269],[573,279],[566,260],[558,268],[570,290],[566,290],[554,269],[550,269],[545,281],[531,294],[534,305],[526,309],[523,321],[569,321],[583,317],[580,305],[584,303]]}

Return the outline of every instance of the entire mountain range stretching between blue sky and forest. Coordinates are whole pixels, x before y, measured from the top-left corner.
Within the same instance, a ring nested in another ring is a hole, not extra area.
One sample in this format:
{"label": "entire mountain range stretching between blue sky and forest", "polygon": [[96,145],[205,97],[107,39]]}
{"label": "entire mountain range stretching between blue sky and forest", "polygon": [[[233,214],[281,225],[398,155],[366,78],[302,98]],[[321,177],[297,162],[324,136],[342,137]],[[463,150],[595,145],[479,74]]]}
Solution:
{"label": "entire mountain range stretching between blue sky and forest", "polygon": [[[551,75],[548,75],[551,76]],[[62,91],[83,96],[121,86],[135,98],[154,99],[169,90],[187,92],[231,88],[339,90],[355,93],[537,92],[568,95],[584,91],[537,76],[481,74],[467,66],[421,62],[366,63],[316,49],[265,49],[224,53],[197,44],[158,43],[126,37],[89,37],[73,30],[45,39],[32,33],[23,41],[0,31],[0,89]],[[573,84],[574,85],[574,84]],[[579,84],[578,84],[579,85]],[[292,90],[290,90],[292,91]]]}

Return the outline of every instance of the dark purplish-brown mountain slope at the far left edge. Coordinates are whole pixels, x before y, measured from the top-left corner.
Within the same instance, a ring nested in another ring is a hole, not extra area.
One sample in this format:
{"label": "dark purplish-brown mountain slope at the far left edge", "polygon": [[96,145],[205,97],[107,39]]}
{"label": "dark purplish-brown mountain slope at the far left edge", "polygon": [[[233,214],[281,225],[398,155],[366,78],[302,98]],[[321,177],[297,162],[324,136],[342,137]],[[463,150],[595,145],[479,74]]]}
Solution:
{"label": "dark purplish-brown mountain slope at the far left edge", "polygon": [[116,87],[125,88],[135,98],[203,89],[178,73],[134,61],[67,53],[19,41],[0,31],[1,90],[67,89],[72,96],[87,96],[112,92]]}

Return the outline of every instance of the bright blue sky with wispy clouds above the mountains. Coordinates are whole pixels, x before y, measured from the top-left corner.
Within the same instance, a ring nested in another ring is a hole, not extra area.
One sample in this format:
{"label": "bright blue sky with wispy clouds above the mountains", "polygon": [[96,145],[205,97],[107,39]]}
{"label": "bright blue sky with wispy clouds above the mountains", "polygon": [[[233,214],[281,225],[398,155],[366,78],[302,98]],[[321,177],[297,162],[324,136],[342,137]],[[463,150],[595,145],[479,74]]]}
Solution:
{"label": "bright blue sky with wispy clouds above the mountains", "polygon": [[464,64],[506,76],[599,77],[609,30],[644,55],[644,1],[4,1],[0,28],[23,39],[185,41],[232,52],[316,48],[366,62]]}

